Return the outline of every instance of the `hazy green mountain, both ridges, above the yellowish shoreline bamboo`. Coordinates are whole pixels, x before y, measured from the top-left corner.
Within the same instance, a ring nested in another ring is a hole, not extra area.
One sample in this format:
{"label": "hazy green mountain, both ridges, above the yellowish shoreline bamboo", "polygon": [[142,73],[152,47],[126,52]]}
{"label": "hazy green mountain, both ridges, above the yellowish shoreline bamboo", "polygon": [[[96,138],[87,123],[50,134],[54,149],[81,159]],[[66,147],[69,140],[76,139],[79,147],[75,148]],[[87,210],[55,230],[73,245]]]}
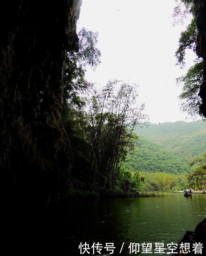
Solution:
{"label": "hazy green mountain, both ridges, above the yellowish shoreline bamboo", "polygon": [[206,151],[206,122],[202,120],[148,123],[135,133],[139,140],[124,164],[131,171],[188,174],[195,168],[189,162]]}

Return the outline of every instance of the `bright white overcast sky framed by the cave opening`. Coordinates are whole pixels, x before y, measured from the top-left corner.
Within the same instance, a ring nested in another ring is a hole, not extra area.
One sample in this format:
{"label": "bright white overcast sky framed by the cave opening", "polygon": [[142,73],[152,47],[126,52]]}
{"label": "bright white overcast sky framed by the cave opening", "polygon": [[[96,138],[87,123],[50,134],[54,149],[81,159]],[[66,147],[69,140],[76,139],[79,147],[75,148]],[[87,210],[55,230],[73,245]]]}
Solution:
{"label": "bright white overcast sky framed by the cave opening", "polygon": [[[181,88],[176,77],[193,65],[192,50],[186,68],[175,66],[181,31],[188,24],[172,26],[174,0],[83,0],[77,30],[98,31],[101,64],[86,78],[104,86],[109,79],[139,84],[139,100],[153,123],[185,120],[179,108]],[[191,121],[190,119],[188,119]],[[187,120],[187,121],[188,121]]]}

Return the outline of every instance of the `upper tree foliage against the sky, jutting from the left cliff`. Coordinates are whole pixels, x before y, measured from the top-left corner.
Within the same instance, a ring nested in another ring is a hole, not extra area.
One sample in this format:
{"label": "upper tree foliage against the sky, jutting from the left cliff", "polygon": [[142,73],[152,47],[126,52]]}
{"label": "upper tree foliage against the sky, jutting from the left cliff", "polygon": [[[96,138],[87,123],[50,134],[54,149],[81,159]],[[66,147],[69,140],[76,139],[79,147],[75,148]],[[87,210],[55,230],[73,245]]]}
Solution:
{"label": "upper tree foliage against the sky, jutting from the left cliff", "polygon": [[96,47],[98,32],[82,28],[78,36],[79,52],[68,52],[65,60],[63,107],[61,110],[63,122],[69,118],[70,108],[81,107],[85,104],[80,95],[85,92],[85,89],[92,87],[92,84],[84,77],[86,66],[95,69],[101,62],[101,52]]}

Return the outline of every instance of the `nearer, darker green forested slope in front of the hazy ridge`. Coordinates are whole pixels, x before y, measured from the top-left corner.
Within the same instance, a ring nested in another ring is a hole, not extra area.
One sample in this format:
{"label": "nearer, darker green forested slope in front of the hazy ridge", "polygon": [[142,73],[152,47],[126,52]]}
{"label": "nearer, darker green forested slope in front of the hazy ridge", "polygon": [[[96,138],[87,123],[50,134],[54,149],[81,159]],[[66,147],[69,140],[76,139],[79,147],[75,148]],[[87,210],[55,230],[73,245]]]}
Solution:
{"label": "nearer, darker green forested slope in front of the hazy ridge", "polygon": [[127,156],[124,167],[130,171],[190,173],[192,168],[184,158],[175,156],[171,151],[161,149],[159,145],[139,137],[134,153]]}

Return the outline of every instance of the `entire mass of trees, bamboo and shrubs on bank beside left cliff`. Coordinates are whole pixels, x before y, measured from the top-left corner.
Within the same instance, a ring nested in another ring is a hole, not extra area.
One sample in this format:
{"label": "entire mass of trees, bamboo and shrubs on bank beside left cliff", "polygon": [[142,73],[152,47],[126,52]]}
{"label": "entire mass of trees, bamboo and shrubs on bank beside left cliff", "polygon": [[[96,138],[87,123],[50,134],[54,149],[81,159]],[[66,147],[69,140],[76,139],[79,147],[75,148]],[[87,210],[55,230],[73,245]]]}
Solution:
{"label": "entire mass of trees, bamboo and shrubs on bank beside left cliff", "polygon": [[122,81],[108,81],[101,90],[85,79],[87,65],[96,68],[101,53],[97,32],[79,32],[78,53],[68,53],[64,73],[62,120],[71,139],[72,178],[107,188],[136,192],[143,177],[122,170],[128,151],[133,151],[133,129],[144,122],[144,104],[137,103],[137,88]]}

